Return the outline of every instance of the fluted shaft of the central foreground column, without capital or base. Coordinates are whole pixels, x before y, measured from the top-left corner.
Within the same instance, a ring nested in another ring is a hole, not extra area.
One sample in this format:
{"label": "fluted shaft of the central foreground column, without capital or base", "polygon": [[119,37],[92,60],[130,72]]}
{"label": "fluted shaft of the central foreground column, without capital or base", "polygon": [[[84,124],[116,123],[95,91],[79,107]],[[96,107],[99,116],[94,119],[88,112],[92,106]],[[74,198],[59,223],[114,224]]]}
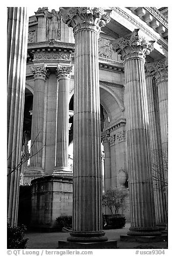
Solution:
{"label": "fluted shaft of the central foreground column, without capital or base", "polygon": [[102,230],[97,34],[82,30],[75,40],[73,223],[74,231],[95,232]]}

